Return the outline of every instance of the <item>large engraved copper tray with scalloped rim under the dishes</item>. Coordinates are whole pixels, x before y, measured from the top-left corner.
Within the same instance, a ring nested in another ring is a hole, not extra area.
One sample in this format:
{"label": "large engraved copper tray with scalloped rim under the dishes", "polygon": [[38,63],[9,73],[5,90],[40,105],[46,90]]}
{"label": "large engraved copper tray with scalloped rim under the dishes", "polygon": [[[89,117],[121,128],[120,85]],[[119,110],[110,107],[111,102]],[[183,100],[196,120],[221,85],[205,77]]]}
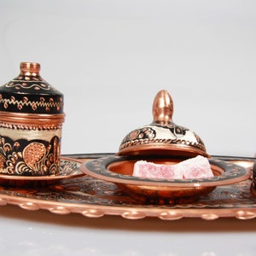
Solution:
{"label": "large engraved copper tray with scalloped rim under the dishes", "polygon": [[[68,161],[84,162],[113,154],[73,154]],[[213,156],[251,168],[255,158]],[[64,158],[65,159],[65,158]],[[78,164],[79,166],[79,164]],[[77,169],[78,166],[74,167]],[[78,170],[74,170],[78,173]],[[107,183],[88,176],[63,178],[57,183],[35,183],[30,187],[0,185],[0,205],[13,204],[26,210],[44,209],[58,214],[80,213],[96,218],[103,215],[119,215],[138,219],[156,217],[166,220],[179,218],[203,218],[207,220],[235,217],[256,217],[256,199],[250,193],[251,179],[241,183],[218,187],[199,201],[182,205],[142,205]]]}

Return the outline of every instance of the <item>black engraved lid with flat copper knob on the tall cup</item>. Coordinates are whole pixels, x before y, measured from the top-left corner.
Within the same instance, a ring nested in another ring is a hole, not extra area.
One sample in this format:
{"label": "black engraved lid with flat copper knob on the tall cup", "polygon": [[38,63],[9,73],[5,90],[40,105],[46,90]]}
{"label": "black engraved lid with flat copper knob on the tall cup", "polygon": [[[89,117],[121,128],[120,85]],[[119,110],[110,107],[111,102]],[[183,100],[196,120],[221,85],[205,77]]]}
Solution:
{"label": "black engraved lid with flat copper knob on the tall cup", "polygon": [[40,64],[21,62],[20,74],[0,86],[0,111],[12,113],[63,113],[63,95],[39,74]]}

